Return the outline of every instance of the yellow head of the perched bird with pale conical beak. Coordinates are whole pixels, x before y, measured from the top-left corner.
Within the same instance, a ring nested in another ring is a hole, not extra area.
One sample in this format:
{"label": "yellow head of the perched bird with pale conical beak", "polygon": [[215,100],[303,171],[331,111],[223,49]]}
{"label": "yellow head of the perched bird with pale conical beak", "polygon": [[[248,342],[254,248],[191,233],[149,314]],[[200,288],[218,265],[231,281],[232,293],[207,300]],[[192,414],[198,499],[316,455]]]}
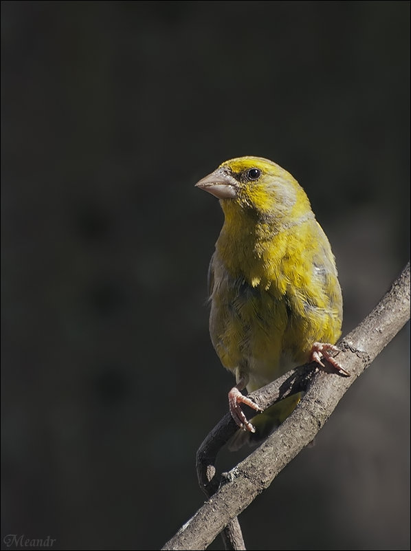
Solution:
{"label": "yellow head of the perched bird with pale conical beak", "polygon": [[196,186],[220,199],[226,217],[280,221],[311,210],[307,195],[291,174],[261,157],[225,161]]}

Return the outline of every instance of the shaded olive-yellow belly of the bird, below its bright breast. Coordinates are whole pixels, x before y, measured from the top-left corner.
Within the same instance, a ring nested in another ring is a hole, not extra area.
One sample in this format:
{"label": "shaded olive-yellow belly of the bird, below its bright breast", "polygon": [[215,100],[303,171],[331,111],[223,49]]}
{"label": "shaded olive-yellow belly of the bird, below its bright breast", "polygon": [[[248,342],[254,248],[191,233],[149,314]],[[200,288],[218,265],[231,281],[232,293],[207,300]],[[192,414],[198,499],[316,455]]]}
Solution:
{"label": "shaded olive-yellow belly of the bird, below its bright breast", "polygon": [[249,376],[249,391],[309,361],[315,341],[340,336],[338,310],[314,306],[304,294],[278,296],[243,280],[222,277],[214,285],[210,335],[221,363]]}

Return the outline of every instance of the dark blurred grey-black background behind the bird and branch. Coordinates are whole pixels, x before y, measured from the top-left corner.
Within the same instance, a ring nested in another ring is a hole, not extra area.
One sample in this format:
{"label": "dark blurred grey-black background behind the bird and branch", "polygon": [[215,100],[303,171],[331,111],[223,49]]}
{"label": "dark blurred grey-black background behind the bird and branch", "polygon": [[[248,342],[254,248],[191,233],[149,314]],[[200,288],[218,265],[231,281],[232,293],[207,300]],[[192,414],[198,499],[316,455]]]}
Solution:
{"label": "dark blurred grey-black background behind the bird and branch", "polygon": [[[409,11],[1,3],[2,540],[154,550],[201,506],[232,376],[206,307],[223,217],[193,186],[223,160],[304,186],[344,332],[384,294],[409,250]],[[241,515],[249,549],[409,549],[408,343]]]}

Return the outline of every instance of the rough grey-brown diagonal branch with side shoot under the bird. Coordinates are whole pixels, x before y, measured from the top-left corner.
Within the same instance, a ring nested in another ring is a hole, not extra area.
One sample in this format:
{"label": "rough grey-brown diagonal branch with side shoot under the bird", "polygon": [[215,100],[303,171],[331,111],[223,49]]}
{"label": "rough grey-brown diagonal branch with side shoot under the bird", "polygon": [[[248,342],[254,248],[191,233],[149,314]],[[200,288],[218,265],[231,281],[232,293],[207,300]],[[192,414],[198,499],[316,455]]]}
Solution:
{"label": "rough grey-brown diagonal branch with side shoot under the bird", "polygon": [[250,394],[265,408],[291,393],[306,392],[289,418],[219,481],[214,467],[216,453],[236,430],[230,415],[225,415],[197,453],[199,482],[211,497],[163,549],[207,548],[216,535],[228,523],[232,524],[231,521],[271,484],[282,468],[313,440],[348,387],[409,318],[410,263],[364,321],[337,343],[341,350],[338,361],[351,373],[350,377],[340,376],[331,369],[318,371],[307,364]]}

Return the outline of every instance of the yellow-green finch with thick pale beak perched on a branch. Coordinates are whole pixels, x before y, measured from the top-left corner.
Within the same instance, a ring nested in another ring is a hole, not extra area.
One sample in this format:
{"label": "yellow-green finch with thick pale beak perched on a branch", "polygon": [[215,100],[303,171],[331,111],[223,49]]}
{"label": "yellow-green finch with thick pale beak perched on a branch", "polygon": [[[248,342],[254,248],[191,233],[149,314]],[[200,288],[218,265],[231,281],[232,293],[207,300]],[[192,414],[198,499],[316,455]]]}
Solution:
{"label": "yellow-green finch with thick pale beak perched on a branch", "polygon": [[335,257],[307,194],[281,166],[254,156],[223,162],[197,188],[219,199],[224,222],[208,270],[210,338],[236,385],[229,409],[240,431],[232,442],[260,442],[296,408],[301,393],[257,412],[252,392],[287,371],[333,357],[342,327]]}

